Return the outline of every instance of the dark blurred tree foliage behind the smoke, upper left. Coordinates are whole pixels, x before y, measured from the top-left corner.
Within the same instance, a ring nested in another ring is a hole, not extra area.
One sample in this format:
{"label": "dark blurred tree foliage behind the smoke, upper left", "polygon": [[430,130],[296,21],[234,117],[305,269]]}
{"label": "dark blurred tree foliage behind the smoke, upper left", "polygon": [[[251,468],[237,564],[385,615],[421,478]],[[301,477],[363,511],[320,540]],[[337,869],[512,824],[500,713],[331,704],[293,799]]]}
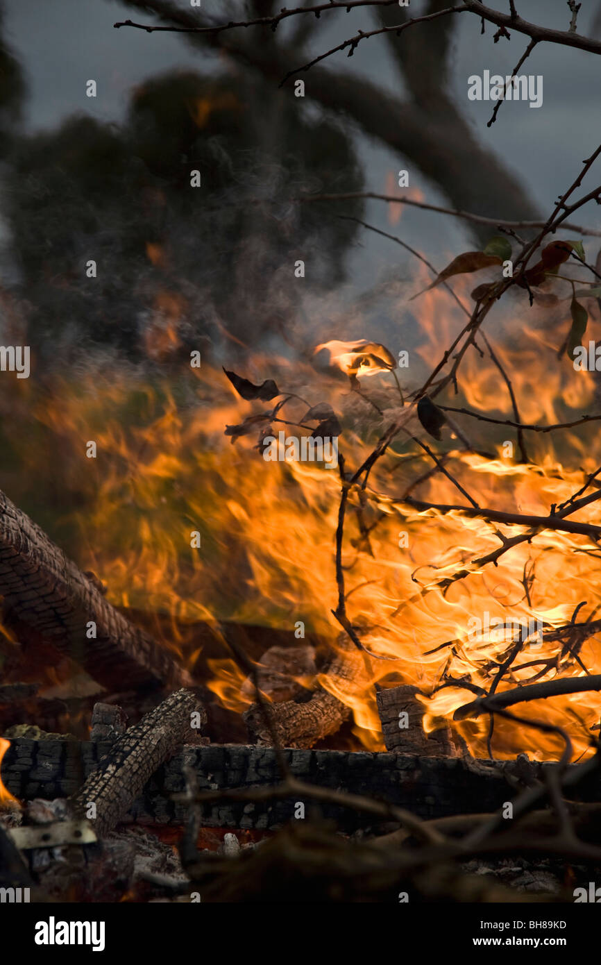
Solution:
{"label": "dark blurred tree foliage behind the smoke, upper left", "polygon": [[176,362],[224,337],[229,352],[286,340],[305,284],[294,262],[313,290],[331,286],[356,231],[341,207],[292,199],[342,187],[362,177],[338,124],[238,74],[168,73],[132,91],[123,126],[76,116],[19,137],[5,215],[28,342],[47,361],[104,345]]}

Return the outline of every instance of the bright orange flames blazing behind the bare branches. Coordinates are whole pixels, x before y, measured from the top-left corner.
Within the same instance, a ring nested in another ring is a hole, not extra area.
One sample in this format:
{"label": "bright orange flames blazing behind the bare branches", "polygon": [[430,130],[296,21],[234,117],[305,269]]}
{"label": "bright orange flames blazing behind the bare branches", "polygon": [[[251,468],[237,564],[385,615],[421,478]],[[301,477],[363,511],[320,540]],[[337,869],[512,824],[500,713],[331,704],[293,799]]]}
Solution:
{"label": "bright orange flames blazing behind the bare branches", "polygon": [[[416,279],[414,290],[426,281],[425,276]],[[473,281],[453,280],[453,288],[469,304]],[[178,296],[162,296],[156,306],[176,330],[184,308]],[[403,345],[403,330],[399,345],[391,345],[395,352],[409,348],[410,380],[405,370],[393,369],[393,351],[365,339],[318,345],[316,350],[329,353],[332,368],[326,371],[314,360],[274,359],[255,351],[244,374],[256,383],[273,378],[284,394],[295,393],[279,413],[294,424],[310,405],[331,405],[341,419],[347,471],[354,469],[369,455],[383,427],[395,420],[423,436],[415,408],[401,404],[395,377],[406,399],[465,323],[443,289],[425,292],[410,308],[419,336]],[[407,311],[406,300],[399,300],[398,311]],[[551,316],[534,305],[528,323],[523,306],[500,305],[496,311],[503,317],[503,329],[500,325],[486,331],[510,372],[523,422],[565,422],[598,408],[592,375],[574,372],[569,362],[557,358],[569,324],[569,300]],[[502,330],[503,338],[498,334]],[[453,399],[447,391],[444,400],[437,401],[512,420],[505,381],[484,343],[478,344],[483,354],[471,349],[462,363],[459,396]],[[361,383],[361,395],[351,390],[341,372],[360,380],[369,374]],[[198,620],[259,623],[287,629],[290,637],[300,621],[307,633],[337,648],[341,627],[332,610],[338,599],[338,473],[309,462],[263,460],[256,448],[257,432],[240,436],[234,445],[224,436],[226,425],[269,411],[273,401],[238,398],[223,373],[205,363],[201,370],[182,372],[177,384],[168,375],[99,370],[92,379],[73,375],[57,381],[50,401],[44,396],[36,402],[32,391],[16,385],[14,416],[6,426],[23,474],[32,481],[24,483],[24,495],[31,502],[33,481],[47,472],[38,461],[40,454],[54,452],[56,491],[77,494],[76,508],[61,522],[58,535],[82,568],[93,569],[107,585],[111,602],[171,618],[164,643],[182,655],[181,627]],[[37,447],[27,445],[29,433],[24,430],[31,424],[32,406],[41,439]],[[596,468],[594,454],[601,443],[597,422],[567,431],[529,432],[531,461],[523,462],[516,461],[511,427],[473,419],[464,419],[461,427],[473,445],[467,448],[448,434],[444,449],[450,441],[455,448],[446,467],[482,507],[547,515]],[[277,430],[277,420],[273,428]],[[82,440],[87,439],[96,440],[97,469],[85,458]],[[512,455],[507,455],[507,442]],[[451,481],[432,469],[431,461],[401,431],[387,455],[374,464],[365,488],[351,485],[348,491],[342,546],[347,610],[362,643],[389,659],[360,661],[352,684],[326,674],[318,681],[352,708],[357,748],[384,747],[376,683],[419,686],[425,695],[426,729],[451,719],[457,707],[474,699],[475,689],[490,687],[512,645],[492,632],[471,633],[474,620],[483,625],[485,614],[526,625],[541,620],[552,629],[569,622],[579,604],[584,603],[579,621],[595,619],[601,608],[598,550],[588,538],[540,531],[513,546],[498,565],[479,566],[475,561],[500,546],[499,532],[512,538],[526,530],[458,511],[418,510],[403,502],[412,487],[412,495],[423,502],[465,503]],[[591,505],[570,518],[595,522],[597,510]],[[196,531],[200,549],[191,545]],[[447,588],[440,585],[459,570],[467,575]],[[526,640],[500,689],[533,677],[582,675],[579,660],[589,673],[601,672],[594,635],[584,639],[577,652],[558,642]],[[243,710],[251,700],[243,686],[246,674],[232,660],[213,660],[210,666],[213,692],[227,707]],[[528,708],[534,719],[567,731],[576,755],[587,753],[591,728],[600,717],[595,693],[533,702]],[[473,754],[486,755],[487,719],[453,722],[455,726]],[[543,735],[507,721],[496,724],[494,750],[499,757],[525,751],[534,758],[553,759],[561,749],[553,733]]]}

